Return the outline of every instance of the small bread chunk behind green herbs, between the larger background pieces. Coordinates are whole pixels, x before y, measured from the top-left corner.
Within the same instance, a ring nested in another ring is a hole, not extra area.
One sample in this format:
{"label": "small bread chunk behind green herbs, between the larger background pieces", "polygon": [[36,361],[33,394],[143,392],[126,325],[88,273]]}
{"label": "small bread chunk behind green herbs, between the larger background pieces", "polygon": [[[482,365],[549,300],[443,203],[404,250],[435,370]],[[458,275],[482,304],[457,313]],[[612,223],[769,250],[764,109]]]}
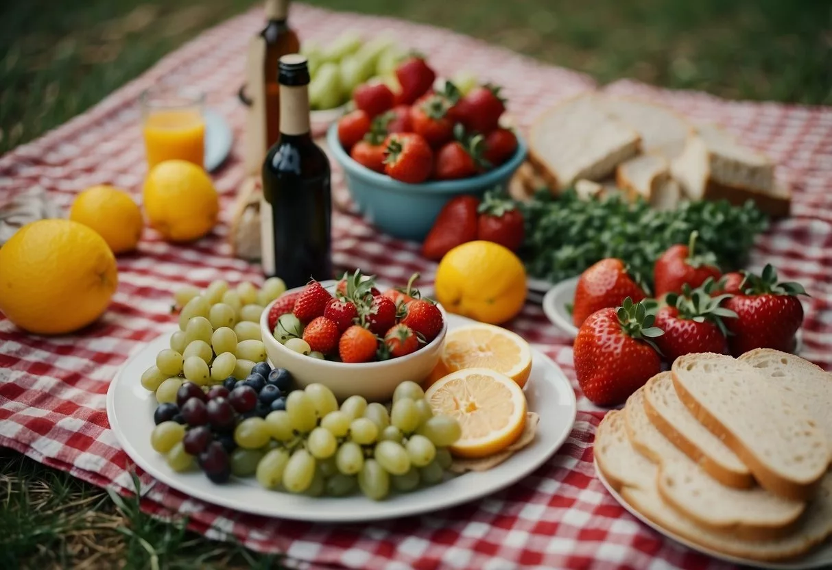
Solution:
{"label": "small bread chunk behind green herbs, between the larger background pieces", "polygon": [[616,168],[616,182],[631,199],[646,199],[659,210],[676,209],[681,198],[679,183],[671,179],[670,163],[661,155],[641,155]]}

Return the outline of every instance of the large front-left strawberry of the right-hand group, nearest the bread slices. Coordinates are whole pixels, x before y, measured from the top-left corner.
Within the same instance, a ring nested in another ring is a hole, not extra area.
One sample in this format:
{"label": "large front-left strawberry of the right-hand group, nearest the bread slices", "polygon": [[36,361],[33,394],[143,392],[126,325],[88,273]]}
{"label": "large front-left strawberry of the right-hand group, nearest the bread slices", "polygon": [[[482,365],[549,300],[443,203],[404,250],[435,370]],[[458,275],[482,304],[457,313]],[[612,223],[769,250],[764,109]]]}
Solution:
{"label": "large front-left strawberry of the right-hand group, nearest the bread slices", "polygon": [[641,302],[593,312],[577,332],[572,354],[578,386],[596,405],[618,405],[661,371],[652,339],[663,332]]}

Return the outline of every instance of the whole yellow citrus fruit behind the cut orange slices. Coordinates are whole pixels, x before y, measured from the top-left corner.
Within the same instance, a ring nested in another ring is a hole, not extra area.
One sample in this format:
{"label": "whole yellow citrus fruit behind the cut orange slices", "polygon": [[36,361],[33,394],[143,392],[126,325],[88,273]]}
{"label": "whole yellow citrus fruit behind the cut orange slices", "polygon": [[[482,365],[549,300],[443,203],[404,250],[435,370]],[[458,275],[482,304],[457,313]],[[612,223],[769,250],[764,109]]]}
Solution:
{"label": "whole yellow citrus fruit behind the cut orange slices", "polygon": [[526,302],[526,269],[498,243],[463,243],[439,262],[436,297],[449,312],[497,325]]}

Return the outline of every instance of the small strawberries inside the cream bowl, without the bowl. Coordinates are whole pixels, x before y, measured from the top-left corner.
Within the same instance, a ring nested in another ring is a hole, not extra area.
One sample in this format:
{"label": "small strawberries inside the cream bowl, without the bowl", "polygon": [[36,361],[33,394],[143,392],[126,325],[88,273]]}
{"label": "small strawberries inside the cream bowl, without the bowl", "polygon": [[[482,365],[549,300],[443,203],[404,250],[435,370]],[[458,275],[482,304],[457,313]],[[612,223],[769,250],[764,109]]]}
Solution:
{"label": "small strawberries inside the cream bowl, without the bowl", "polygon": [[338,283],[334,296],[316,282],[280,297],[269,312],[275,339],[290,350],[342,362],[406,356],[442,331],[436,304],[421,298],[414,281],[384,293],[374,278],[356,271]]}

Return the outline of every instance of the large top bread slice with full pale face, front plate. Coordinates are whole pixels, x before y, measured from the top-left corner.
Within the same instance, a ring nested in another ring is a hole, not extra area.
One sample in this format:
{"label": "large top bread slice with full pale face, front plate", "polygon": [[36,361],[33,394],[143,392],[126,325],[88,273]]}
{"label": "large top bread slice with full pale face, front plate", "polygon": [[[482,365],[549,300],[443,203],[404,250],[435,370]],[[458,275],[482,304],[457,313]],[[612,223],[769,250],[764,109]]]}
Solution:
{"label": "large top bread slice with full pale face, front plate", "polygon": [[746,361],[713,353],[673,362],[679,399],[774,494],[808,500],[830,464],[830,446],[803,400],[765,381]]}

